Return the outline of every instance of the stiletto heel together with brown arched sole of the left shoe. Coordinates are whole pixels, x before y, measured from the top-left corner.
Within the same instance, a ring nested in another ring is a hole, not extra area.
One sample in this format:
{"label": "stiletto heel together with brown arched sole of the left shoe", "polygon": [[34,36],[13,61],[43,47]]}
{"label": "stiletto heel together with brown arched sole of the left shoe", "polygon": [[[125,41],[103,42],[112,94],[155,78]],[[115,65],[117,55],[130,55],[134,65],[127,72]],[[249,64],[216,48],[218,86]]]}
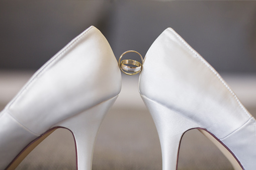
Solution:
{"label": "stiletto heel together with brown arched sole of the left shoe", "polygon": [[94,144],[98,131],[105,114],[114,104],[118,96],[106,100],[102,103],[84,110],[62,122],[54,125],[46,133],[33,140],[25,147],[18,156],[10,163],[7,169],[15,169],[20,162],[32,151],[40,142],[49,136],[57,128],[68,129],[74,137],[77,169],[92,169],[92,159]]}

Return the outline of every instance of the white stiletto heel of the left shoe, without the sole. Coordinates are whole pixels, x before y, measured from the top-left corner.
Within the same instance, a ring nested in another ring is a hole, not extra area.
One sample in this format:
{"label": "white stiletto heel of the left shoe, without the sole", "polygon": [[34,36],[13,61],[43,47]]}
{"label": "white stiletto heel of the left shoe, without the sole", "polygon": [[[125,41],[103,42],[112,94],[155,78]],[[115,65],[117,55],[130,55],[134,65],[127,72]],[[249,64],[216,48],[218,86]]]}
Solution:
{"label": "white stiletto heel of the left shoe, without the sole", "polygon": [[85,110],[56,126],[64,127],[73,134],[77,169],[91,169],[94,144],[106,111],[114,104],[117,96]]}

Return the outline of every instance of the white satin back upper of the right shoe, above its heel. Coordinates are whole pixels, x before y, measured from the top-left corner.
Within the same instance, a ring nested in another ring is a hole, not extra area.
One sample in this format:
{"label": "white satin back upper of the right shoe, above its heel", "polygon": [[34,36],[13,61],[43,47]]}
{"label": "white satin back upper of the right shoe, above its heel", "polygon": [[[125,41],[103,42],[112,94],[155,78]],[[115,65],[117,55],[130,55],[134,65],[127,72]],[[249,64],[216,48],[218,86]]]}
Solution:
{"label": "white satin back upper of the right shoe, above its heel", "polygon": [[139,91],[219,138],[251,117],[210,64],[172,29],[166,29],[148,50]]}

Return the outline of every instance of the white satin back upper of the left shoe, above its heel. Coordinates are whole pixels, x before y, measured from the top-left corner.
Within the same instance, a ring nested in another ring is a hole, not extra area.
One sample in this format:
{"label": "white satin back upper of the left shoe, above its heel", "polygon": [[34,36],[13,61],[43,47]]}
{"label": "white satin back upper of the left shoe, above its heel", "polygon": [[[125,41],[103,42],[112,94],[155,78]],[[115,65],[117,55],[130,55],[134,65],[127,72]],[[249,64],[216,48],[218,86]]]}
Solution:
{"label": "white satin back upper of the left shoe, above its heel", "polygon": [[116,96],[121,73],[112,49],[90,27],[39,69],[7,106],[34,133]]}

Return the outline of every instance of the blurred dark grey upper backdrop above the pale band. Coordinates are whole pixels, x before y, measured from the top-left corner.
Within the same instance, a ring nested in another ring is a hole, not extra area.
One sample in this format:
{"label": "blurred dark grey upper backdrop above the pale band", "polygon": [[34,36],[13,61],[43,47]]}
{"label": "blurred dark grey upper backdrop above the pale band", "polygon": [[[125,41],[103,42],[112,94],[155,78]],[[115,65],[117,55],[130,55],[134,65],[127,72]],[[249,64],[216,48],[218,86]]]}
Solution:
{"label": "blurred dark grey upper backdrop above the pale band", "polygon": [[254,1],[1,1],[0,69],[38,69],[94,25],[116,57],[172,27],[217,71],[256,72]]}

